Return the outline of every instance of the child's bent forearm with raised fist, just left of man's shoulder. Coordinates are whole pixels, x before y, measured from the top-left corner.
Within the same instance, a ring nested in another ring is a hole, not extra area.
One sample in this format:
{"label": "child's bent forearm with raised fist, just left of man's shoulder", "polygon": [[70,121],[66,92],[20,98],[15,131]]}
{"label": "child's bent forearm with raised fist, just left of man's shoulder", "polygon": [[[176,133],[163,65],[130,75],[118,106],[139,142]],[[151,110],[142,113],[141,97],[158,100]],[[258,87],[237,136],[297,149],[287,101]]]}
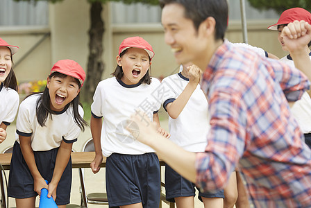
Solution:
{"label": "child's bent forearm with raised fist, just left of man's shoulder", "polygon": [[171,116],[172,119],[177,119],[180,112],[183,111],[183,108],[187,104],[190,99],[190,96],[196,89],[196,86],[200,83],[201,79],[201,70],[196,65],[192,65],[191,67],[187,67],[189,70],[187,73],[189,75],[189,83],[183,90],[183,92],[176,98],[176,100],[172,103],[168,103],[166,106],[167,113]]}

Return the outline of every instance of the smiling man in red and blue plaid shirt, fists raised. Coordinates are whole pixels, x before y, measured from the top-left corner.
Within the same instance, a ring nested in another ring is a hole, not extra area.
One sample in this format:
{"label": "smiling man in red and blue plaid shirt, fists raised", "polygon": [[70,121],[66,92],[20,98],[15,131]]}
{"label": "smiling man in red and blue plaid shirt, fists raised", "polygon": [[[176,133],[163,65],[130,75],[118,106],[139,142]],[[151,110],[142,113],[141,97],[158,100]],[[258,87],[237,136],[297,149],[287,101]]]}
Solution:
{"label": "smiling man in red and blue plaid shirt, fists raised", "polygon": [[296,21],[283,29],[299,71],[228,44],[226,0],[160,0],[160,5],[165,42],[176,61],[205,69],[208,146],[204,153],[187,152],[157,134],[140,114],[132,117],[137,139],[203,190],[224,188],[239,166],[251,206],[311,207],[311,150],[289,108],[310,87],[301,71],[311,69],[303,48],[311,26]]}

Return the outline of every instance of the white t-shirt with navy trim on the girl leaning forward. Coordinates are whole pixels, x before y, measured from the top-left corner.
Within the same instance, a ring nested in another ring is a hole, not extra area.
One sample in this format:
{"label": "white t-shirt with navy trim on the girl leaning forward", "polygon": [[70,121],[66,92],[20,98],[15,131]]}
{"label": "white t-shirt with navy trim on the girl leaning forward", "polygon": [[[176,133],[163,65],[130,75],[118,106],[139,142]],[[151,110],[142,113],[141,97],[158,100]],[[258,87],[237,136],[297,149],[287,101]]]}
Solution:
{"label": "white t-shirt with navy trim on the girl leaning forward", "polygon": [[[66,143],[74,143],[80,135],[80,128],[74,121],[74,110],[72,105],[67,110],[56,112],[47,117],[44,126],[37,122],[35,114],[37,99],[42,94],[29,96],[21,105],[16,121],[16,140],[19,142],[18,135],[31,137],[31,148],[34,151],[46,151],[58,148],[64,140]],[[83,108],[79,105],[79,114],[83,117]]]}

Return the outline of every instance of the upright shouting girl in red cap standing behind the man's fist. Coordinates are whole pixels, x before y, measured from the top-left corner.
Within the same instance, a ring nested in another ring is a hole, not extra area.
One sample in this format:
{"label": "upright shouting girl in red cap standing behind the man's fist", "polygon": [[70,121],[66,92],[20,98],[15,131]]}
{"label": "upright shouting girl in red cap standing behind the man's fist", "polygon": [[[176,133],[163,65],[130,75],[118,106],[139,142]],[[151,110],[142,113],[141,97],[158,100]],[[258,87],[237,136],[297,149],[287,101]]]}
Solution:
{"label": "upright shouting girl in red cap standing behind the man's fist", "polygon": [[91,164],[97,173],[103,155],[109,207],[159,207],[160,166],[154,150],[125,130],[137,110],[158,123],[160,101],[155,89],[160,81],[150,77],[151,45],[142,37],[128,37],[119,46],[115,77],[102,80],[92,103],[91,131],[96,156]]}

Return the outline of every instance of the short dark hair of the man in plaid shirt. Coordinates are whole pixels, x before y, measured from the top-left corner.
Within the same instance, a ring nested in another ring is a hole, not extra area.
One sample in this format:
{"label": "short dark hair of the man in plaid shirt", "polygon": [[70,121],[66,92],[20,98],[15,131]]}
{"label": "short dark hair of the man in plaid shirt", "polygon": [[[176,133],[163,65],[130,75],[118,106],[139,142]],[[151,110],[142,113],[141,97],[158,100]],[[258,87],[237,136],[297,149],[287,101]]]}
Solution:
{"label": "short dark hair of the man in plaid shirt", "polygon": [[208,17],[214,17],[215,40],[224,40],[228,21],[227,0],[159,0],[160,7],[164,8],[171,3],[178,3],[185,8],[185,18],[191,19],[194,28],[198,31],[200,24]]}

